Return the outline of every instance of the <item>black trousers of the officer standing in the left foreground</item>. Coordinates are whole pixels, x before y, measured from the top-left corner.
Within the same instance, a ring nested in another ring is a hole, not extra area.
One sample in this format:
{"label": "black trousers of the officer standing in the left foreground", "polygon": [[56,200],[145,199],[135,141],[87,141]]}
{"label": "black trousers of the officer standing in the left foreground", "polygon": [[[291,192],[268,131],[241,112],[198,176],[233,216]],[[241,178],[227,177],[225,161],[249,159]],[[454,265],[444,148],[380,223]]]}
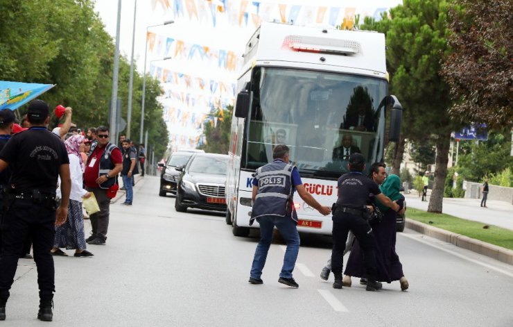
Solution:
{"label": "black trousers of the officer standing in the left foreground", "polygon": [[55,210],[28,199],[16,199],[1,221],[0,296],[9,296],[14,283],[19,253],[29,236],[37,266],[41,296],[55,292],[55,268],[50,250],[55,237]]}

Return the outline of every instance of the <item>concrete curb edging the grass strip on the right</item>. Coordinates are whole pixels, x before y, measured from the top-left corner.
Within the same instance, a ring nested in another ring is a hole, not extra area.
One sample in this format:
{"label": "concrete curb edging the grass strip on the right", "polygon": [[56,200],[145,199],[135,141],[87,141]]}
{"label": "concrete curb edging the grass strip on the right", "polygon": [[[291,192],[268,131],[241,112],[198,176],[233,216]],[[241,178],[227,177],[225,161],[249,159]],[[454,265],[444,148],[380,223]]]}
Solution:
{"label": "concrete curb edging the grass strip on the right", "polygon": [[429,226],[428,224],[412,219],[406,219],[406,228],[410,228],[421,234],[434,237],[437,240],[451,243],[455,246],[459,246],[460,248],[486,255],[492,259],[513,265],[513,251],[510,249],[505,249],[501,246],[496,246],[464,235],[449,232],[442,228]]}

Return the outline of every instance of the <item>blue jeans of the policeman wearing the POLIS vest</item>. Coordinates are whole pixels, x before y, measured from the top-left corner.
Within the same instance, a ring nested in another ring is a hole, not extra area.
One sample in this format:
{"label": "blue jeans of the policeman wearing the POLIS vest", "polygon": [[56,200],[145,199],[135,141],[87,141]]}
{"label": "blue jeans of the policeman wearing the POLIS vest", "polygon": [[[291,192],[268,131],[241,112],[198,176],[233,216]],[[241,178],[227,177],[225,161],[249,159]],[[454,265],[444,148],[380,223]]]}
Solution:
{"label": "blue jeans of the policeman wearing the POLIS vest", "polygon": [[263,216],[257,218],[260,224],[260,242],[254,251],[253,265],[250,276],[259,279],[262,276],[263,266],[266,265],[267,253],[272,242],[272,230],[276,226],[281,237],[287,243],[284,265],[281,267],[280,277],[292,278],[292,271],[299,253],[299,233],[296,222],[290,217]]}

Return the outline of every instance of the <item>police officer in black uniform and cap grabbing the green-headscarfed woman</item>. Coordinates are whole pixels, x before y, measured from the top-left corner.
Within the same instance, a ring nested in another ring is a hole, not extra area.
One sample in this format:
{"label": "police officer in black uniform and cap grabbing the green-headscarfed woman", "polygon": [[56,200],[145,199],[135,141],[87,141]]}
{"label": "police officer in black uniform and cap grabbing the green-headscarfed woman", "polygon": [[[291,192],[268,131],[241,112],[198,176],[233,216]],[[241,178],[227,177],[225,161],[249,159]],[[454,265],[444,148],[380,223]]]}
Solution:
{"label": "police officer in black uniform and cap grabbing the green-headscarfed woman", "polygon": [[360,153],[349,157],[349,173],[338,178],[338,199],[333,206],[333,251],[331,251],[331,269],[335,275],[333,288],[342,288],[342,265],[347,234],[351,230],[363,249],[365,271],[367,271],[367,291],[381,289],[376,282],[376,255],[374,253],[374,235],[366,218],[369,194],[374,194],[381,203],[393,210],[399,205],[388,199],[379,190],[372,179],[364,176],[365,158]]}

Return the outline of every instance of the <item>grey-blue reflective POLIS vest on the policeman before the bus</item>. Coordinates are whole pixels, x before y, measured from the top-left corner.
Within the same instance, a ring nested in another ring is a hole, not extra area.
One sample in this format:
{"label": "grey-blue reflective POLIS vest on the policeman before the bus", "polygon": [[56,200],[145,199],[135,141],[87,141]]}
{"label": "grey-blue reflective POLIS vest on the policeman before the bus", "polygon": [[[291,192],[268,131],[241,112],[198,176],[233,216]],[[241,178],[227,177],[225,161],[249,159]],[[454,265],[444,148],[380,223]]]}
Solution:
{"label": "grey-blue reflective POLIS vest on the policeman before the bus", "polygon": [[288,216],[297,221],[292,201],[293,185],[290,177],[293,169],[293,165],[282,161],[271,162],[257,169],[254,178],[259,183],[259,190],[251,211],[250,224],[254,219],[265,215]]}

